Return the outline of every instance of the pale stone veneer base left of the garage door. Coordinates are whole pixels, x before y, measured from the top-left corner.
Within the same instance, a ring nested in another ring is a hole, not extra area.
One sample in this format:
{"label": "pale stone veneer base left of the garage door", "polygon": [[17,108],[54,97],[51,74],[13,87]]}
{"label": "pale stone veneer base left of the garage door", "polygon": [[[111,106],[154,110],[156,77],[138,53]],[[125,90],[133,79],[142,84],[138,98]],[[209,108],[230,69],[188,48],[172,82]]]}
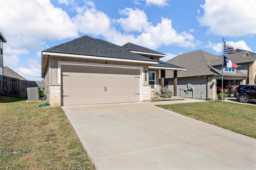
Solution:
{"label": "pale stone veneer base left of the garage door", "polygon": [[50,84],[50,106],[60,106],[60,84]]}

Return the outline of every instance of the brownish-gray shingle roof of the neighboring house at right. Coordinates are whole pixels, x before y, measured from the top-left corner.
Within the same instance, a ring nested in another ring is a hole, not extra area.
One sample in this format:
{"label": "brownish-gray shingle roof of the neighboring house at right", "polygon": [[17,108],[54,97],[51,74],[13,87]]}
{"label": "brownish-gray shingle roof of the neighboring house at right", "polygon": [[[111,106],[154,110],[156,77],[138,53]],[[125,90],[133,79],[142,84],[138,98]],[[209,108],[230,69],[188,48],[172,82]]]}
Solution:
{"label": "brownish-gray shingle roof of the neighboring house at right", "polygon": [[[244,59],[241,55],[244,55],[246,52],[240,52],[235,54],[225,55],[233,63],[239,64],[236,61],[252,61],[256,56],[245,56]],[[240,56],[240,57],[239,57]],[[190,53],[185,53],[178,55],[167,63],[177,64],[186,68],[184,71],[178,71],[178,77],[194,77],[194,76],[211,76],[211,75],[220,75],[222,74],[221,70],[214,68],[213,66],[222,65],[222,56],[213,55],[211,53],[198,50]],[[246,74],[236,70],[236,74],[223,74],[224,76],[247,76]],[[166,78],[172,78],[173,71],[166,71]]]}

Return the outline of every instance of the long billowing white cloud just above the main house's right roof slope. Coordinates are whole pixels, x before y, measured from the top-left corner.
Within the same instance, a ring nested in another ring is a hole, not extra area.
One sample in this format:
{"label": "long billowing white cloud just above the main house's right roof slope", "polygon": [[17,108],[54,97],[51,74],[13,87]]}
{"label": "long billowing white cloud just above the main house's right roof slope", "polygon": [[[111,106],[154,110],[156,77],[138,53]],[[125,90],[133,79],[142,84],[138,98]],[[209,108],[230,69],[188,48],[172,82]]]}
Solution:
{"label": "long billowing white cloud just above the main house's right roof slope", "polygon": [[130,42],[149,49],[157,49],[161,45],[177,45],[179,47],[194,48],[200,44],[200,41],[196,41],[192,34],[187,32],[178,33],[172,27],[171,20],[167,18],[161,19],[161,22],[156,26],[147,22],[146,25],[148,26],[143,28],[145,31],[142,31],[138,36],[115,33],[110,34],[114,35],[113,37],[108,36],[106,38],[108,41],[117,45],[124,45]]}

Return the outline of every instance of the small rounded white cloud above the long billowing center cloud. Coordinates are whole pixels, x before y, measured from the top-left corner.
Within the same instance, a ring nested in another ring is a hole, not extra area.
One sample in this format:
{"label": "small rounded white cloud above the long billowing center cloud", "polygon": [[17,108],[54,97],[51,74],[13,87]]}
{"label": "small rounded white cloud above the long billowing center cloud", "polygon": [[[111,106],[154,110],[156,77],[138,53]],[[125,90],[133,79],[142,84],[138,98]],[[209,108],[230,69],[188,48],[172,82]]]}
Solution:
{"label": "small rounded white cloud above the long billowing center cloud", "polygon": [[141,32],[151,25],[151,23],[148,22],[148,17],[143,10],[125,8],[124,10],[120,10],[119,13],[122,16],[128,16],[127,18],[120,18],[116,20],[117,23],[121,24],[124,31]]}

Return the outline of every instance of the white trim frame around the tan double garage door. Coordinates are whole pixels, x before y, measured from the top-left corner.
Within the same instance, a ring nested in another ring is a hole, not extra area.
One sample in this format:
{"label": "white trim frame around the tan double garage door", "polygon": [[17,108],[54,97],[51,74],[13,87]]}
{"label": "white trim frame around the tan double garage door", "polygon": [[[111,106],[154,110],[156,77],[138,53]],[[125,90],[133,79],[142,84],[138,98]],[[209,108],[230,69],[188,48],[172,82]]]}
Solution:
{"label": "white trim frame around the tan double garage door", "polygon": [[98,67],[114,67],[114,68],[130,68],[130,69],[140,69],[140,102],[143,102],[143,66],[125,66],[125,65],[115,65],[115,64],[97,64],[97,63],[81,63],[81,62],[71,62],[71,61],[58,61],[58,84],[61,84],[61,65],[80,65],[80,66],[98,66]]}

